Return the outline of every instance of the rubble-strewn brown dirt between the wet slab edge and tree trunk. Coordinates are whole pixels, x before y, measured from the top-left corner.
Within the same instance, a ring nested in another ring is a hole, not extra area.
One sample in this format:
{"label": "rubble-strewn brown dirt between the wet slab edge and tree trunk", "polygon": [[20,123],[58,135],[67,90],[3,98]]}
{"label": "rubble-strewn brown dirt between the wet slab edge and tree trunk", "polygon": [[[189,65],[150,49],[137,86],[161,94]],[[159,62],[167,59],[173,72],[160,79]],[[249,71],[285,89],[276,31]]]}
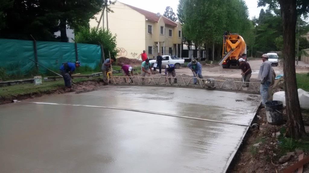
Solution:
{"label": "rubble-strewn brown dirt between the wet slab edge and tree trunk", "polygon": [[[278,140],[281,134],[281,126],[273,126],[267,123],[265,108],[260,108],[253,123],[260,125],[260,129],[251,128],[243,144],[230,165],[228,172],[239,173],[272,173],[282,172],[287,167],[290,167],[298,161],[298,157],[303,153],[301,150],[295,149],[293,153],[282,153],[278,148],[280,141]],[[307,131],[308,132],[308,131]],[[289,155],[290,159],[284,163],[280,163],[279,159],[283,155]],[[309,153],[304,153],[304,158],[308,157]],[[309,164],[304,165],[304,173],[309,173]]]}

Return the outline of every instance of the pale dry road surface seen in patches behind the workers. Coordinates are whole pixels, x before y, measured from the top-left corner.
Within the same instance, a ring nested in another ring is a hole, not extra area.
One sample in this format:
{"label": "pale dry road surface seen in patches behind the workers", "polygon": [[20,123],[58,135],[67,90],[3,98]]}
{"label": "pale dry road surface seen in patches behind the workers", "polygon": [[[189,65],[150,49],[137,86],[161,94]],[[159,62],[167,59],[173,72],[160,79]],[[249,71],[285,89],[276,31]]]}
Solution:
{"label": "pale dry road surface seen in patches behind the workers", "polygon": [[[250,67],[252,69],[252,76],[251,78],[257,79],[257,76],[260,71],[260,65],[262,64],[262,60],[251,60],[248,61],[250,64]],[[295,62],[296,64],[296,62]],[[306,67],[309,67],[309,64],[305,64],[302,61],[298,62],[298,66],[302,68],[296,68],[296,73],[308,73],[308,69]],[[273,66],[273,69],[275,70],[275,73],[283,74],[283,66]],[[177,75],[192,75],[192,71],[188,68],[181,68],[176,69]],[[222,66],[213,66],[213,67],[202,67],[202,75],[203,76],[213,76],[213,77],[227,77],[227,78],[241,78],[241,70],[236,67],[231,67],[229,69],[223,69]]]}

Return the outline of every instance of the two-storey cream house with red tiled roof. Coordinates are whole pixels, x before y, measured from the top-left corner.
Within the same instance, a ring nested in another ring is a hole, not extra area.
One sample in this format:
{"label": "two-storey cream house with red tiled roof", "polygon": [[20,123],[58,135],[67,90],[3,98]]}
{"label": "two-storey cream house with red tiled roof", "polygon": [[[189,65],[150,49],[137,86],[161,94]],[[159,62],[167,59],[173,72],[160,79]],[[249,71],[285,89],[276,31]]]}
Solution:
{"label": "two-storey cream house with red tiled roof", "polygon": [[[149,58],[156,57],[158,52],[164,55],[181,57],[182,30],[180,23],[150,11],[116,1],[108,13],[108,29],[116,34],[118,57],[137,58],[143,50]],[[99,20],[101,13],[95,18]],[[106,13],[99,27],[106,27]],[[98,22],[91,19],[90,27]]]}

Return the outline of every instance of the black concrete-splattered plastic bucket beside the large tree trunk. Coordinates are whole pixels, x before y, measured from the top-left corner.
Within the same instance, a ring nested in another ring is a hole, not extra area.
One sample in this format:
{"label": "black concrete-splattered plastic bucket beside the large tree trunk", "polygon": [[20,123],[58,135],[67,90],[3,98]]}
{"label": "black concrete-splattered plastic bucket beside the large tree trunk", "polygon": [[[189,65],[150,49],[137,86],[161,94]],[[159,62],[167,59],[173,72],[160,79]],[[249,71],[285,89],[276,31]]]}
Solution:
{"label": "black concrete-splattered plastic bucket beside the large tree trunk", "polygon": [[283,103],[273,100],[265,103],[267,122],[272,125],[281,125],[283,122],[282,115]]}

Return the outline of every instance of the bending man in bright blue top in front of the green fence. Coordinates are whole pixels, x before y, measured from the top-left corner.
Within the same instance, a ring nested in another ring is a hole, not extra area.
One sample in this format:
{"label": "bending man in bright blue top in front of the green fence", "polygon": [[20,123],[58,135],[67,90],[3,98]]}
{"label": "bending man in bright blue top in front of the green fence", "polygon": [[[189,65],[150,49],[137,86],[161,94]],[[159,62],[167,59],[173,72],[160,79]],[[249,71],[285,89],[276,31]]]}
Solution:
{"label": "bending man in bright blue top in front of the green fence", "polygon": [[60,66],[60,73],[63,77],[64,80],[64,85],[67,88],[71,88],[72,84],[71,84],[71,77],[73,72],[76,70],[76,68],[78,68],[79,66],[81,66],[82,64],[79,61],[76,61],[75,63],[73,62],[65,62],[62,63],[62,66]]}

